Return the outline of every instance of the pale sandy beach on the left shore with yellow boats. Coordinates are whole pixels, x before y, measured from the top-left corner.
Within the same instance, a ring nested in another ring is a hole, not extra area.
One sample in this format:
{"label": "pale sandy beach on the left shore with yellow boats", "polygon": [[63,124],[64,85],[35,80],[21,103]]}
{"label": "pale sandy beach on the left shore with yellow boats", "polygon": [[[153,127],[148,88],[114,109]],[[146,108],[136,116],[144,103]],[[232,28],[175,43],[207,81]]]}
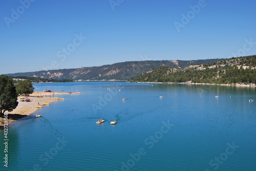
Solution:
{"label": "pale sandy beach on the left shore with yellow boats", "polygon": [[[44,97],[39,97],[42,96],[44,94],[50,94]],[[59,94],[59,95],[53,95],[53,94]],[[13,123],[13,121],[16,121],[18,118],[22,118],[24,116],[30,115],[32,113],[34,113],[35,111],[38,110],[38,108],[36,108],[35,106],[42,106],[42,109],[40,110],[44,110],[44,104],[45,103],[52,103],[52,102],[57,102],[60,101],[60,99],[56,99],[56,98],[61,98],[61,95],[63,94],[69,94],[68,92],[40,92],[40,91],[34,91],[32,94],[29,94],[29,99],[31,100],[31,102],[20,102],[20,97],[25,97],[25,96],[18,96],[18,106],[12,111],[12,112],[8,112],[6,111],[6,113],[8,113],[8,125]],[[38,96],[38,97],[36,97]],[[55,99],[54,99],[55,97]],[[39,102],[39,105],[38,105]],[[14,115],[14,114],[18,114],[18,115]],[[20,116],[20,115],[24,115],[24,116]],[[11,118],[14,119],[11,119]],[[1,120],[3,118],[0,118]],[[0,126],[4,126],[4,124],[2,124],[0,122]]]}

